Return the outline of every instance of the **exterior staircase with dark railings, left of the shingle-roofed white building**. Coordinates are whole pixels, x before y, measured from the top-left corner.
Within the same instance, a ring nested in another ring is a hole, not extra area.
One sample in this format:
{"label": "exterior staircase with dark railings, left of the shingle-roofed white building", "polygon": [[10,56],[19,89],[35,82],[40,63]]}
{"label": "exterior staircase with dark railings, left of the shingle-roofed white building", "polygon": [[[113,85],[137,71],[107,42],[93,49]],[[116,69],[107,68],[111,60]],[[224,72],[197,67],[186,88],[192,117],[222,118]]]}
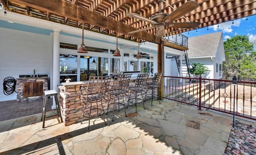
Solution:
{"label": "exterior staircase with dark railings, left of the shingle-roofed white building", "polygon": [[[178,71],[180,73],[180,56],[176,55],[174,57],[177,63]],[[190,77],[189,69],[190,65],[188,61],[188,53],[185,51],[185,54],[182,55],[182,77]]]}

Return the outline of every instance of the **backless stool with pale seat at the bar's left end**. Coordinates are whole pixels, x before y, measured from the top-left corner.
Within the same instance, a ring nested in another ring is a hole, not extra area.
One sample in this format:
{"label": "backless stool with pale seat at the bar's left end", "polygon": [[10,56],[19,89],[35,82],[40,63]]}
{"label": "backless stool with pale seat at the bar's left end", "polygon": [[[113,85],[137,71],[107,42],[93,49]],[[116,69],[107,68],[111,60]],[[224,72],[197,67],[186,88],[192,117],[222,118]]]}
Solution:
{"label": "backless stool with pale seat at the bar's left end", "polygon": [[47,104],[47,101],[48,101],[48,97],[50,97],[50,96],[54,96],[55,103],[56,103],[56,109],[53,109],[53,110],[57,111],[56,115],[60,116],[60,121],[61,121],[61,123],[63,122],[61,114],[60,114],[60,105],[59,105],[59,100],[58,100],[58,93],[56,92],[56,90],[45,90],[44,91],[44,102],[43,102],[42,116],[41,116],[41,121],[43,121],[43,128],[44,128],[46,118],[56,116],[56,115],[52,115],[52,116],[46,117],[46,112],[53,111],[53,110],[47,110],[46,111],[46,104]]}

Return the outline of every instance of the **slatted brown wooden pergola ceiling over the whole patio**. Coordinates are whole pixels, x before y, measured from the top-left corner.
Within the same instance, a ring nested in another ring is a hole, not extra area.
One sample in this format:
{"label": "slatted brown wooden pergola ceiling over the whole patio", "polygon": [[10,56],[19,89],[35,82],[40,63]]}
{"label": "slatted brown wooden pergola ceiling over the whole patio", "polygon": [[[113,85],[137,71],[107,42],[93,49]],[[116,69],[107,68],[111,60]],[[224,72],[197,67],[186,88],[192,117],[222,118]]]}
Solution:
{"label": "slatted brown wooden pergola ceiling over the whole patio", "polygon": [[[42,20],[73,27],[85,24],[87,30],[138,41],[160,43],[156,29],[128,34],[130,31],[148,28],[152,24],[126,16],[137,13],[150,18],[159,13],[170,14],[187,0],[166,0],[159,6],[158,0],[0,0],[7,11],[24,14]],[[194,0],[195,10],[174,22],[200,22],[198,28],[212,26],[256,14],[255,0]],[[174,8],[174,9],[173,9]],[[186,18],[186,19],[185,19]],[[192,29],[168,28],[165,36]],[[118,33],[117,33],[118,32]]]}

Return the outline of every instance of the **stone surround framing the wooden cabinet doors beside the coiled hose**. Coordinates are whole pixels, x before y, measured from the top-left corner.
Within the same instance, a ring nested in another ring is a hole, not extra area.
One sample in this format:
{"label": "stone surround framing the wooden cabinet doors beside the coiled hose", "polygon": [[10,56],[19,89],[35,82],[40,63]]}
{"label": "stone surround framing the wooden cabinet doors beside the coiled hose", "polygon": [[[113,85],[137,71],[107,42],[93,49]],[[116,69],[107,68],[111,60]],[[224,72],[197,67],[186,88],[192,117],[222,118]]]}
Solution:
{"label": "stone surround framing the wooden cabinet doors beside the coiled hose", "polygon": [[[24,82],[43,82],[43,95],[42,96],[30,96],[30,97],[23,97],[23,83]],[[48,77],[42,78],[17,78],[16,82],[17,88],[17,102],[25,102],[25,101],[32,101],[38,100],[39,98],[44,98],[44,91],[48,90]]]}

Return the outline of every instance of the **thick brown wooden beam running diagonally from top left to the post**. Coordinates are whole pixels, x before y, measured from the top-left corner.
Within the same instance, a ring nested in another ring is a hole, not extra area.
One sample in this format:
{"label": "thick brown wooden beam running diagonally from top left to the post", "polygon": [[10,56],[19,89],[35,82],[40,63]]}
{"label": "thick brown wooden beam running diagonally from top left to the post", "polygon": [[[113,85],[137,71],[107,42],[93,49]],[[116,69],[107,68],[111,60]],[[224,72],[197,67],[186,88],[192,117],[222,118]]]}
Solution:
{"label": "thick brown wooden beam running diagonally from top left to the post", "polygon": [[[103,27],[112,31],[117,31],[128,35],[128,32],[137,30],[137,28],[124,24],[122,22],[113,20],[106,16],[92,12],[81,6],[77,6],[66,0],[12,0],[26,6],[43,10],[46,12],[52,12],[59,16],[64,16],[72,20],[79,20],[81,22],[92,24],[98,27]],[[55,7],[59,6],[59,7]],[[136,38],[147,40],[153,43],[160,43],[160,38],[150,34],[146,31],[140,31],[137,33],[129,34]]]}

